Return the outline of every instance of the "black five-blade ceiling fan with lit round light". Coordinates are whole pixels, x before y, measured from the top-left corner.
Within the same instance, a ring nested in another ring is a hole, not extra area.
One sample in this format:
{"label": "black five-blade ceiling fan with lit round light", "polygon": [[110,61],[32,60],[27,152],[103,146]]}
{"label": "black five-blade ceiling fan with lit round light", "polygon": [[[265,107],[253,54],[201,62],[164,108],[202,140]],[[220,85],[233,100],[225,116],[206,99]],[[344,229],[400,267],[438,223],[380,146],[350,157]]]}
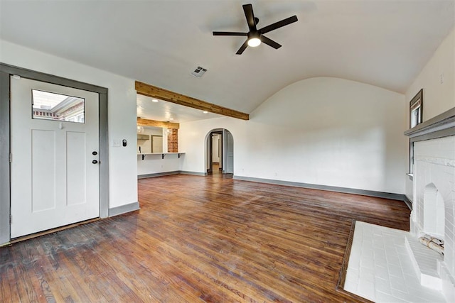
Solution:
{"label": "black five-blade ceiling fan with lit round light", "polygon": [[264,33],[269,33],[269,31],[274,31],[277,28],[281,28],[283,26],[287,26],[288,24],[294,23],[297,21],[297,16],[291,16],[289,18],[283,19],[282,21],[278,21],[275,23],[270,24],[269,26],[265,26],[261,29],[257,29],[257,23],[259,23],[259,18],[255,17],[253,13],[253,6],[251,4],[244,4],[243,11],[245,11],[245,17],[247,18],[248,28],[250,31],[248,33],[238,33],[238,32],[229,32],[229,31],[214,31],[213,35],[246,35],[247,40],[240,46],[239,50],[237,50],[237,55],[242,55],[243,51],[247,48],[247,46],[251,46],[252,48],[261,44],[261,42],[272,46],[274,49],[281,48],[282,45],[276,43],[274,40],[267,38],[264,36]]}

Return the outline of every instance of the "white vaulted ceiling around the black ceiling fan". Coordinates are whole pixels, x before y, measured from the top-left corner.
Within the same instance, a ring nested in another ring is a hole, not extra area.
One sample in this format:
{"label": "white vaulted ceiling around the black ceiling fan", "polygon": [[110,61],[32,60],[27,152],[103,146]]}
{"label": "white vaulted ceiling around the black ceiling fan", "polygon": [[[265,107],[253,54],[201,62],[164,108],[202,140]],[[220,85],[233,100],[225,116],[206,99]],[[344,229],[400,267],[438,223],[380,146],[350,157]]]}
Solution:
{"label": "white vaulted ceiling around the black ceiling fan", "polygon": [[[250,113],[287,85],[341,77],[405,92],[454,26],[455,0],[0,0],[0,38]],[[247,48],[242,4],[283,47]],[[196,78],[198,65],[208,69]]]}

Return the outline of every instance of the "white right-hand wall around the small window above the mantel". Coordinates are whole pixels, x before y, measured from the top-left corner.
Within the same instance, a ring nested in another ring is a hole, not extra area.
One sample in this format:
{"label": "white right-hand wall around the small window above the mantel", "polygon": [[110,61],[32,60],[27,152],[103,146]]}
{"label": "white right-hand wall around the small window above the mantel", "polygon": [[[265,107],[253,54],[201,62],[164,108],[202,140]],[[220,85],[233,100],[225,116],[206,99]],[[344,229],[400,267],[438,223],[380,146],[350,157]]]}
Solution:
{"label": "white right-hand wall around the small window above the mantel", "polygon": [[[441,77],[443,78],[441,83]],[[405,119],[409,128],[409,101],[423,92],[423,121],[434,118],[455,107],[455,28],[442,41],[406,91]],[[407,172],[407,168],[405,170]],[[412,181],[407,178],[406,196],[412,200]]]}

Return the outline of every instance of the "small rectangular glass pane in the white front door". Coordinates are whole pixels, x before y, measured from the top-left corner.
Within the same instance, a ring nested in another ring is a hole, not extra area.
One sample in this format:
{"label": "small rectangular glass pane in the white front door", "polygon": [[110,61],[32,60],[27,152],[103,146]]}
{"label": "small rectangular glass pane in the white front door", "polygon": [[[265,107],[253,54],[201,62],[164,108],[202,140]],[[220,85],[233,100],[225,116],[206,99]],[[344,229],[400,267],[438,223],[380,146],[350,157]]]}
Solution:
{"label": "small rectangular glass pane in the white front door", "polygon": [[85,123],[85,99],[32,89],[32,118]]}

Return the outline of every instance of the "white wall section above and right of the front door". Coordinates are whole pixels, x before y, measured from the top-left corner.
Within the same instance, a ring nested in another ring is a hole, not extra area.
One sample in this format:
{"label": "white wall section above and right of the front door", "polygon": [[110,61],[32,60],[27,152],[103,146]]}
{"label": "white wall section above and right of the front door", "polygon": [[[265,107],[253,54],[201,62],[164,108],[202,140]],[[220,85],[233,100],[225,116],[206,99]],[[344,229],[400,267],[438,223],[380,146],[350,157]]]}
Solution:
{"label": "white wall section above and right of the front door", "polygon": [[[109,208],[137,202],[136,90],[134,80],[0,40],[0,62],[107,87]],[[127,147],[112,147],[127,139]]]}

